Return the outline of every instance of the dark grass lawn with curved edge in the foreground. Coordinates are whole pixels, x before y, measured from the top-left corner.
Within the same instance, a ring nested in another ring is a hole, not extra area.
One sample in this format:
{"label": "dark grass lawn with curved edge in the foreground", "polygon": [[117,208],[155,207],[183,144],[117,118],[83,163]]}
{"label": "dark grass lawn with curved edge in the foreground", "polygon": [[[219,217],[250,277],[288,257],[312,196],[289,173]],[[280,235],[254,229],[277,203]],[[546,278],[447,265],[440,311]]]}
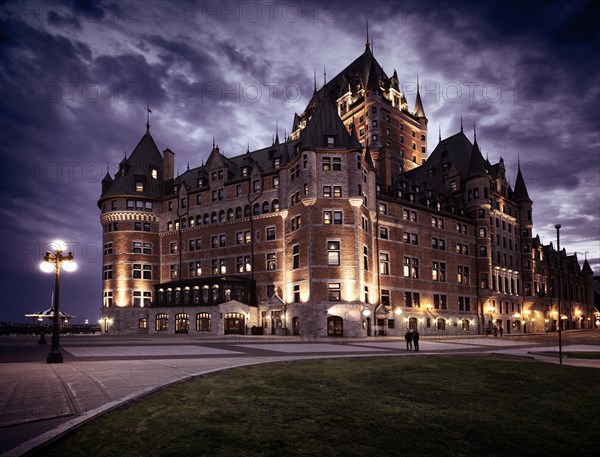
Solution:
{"label": "dark grass lawn with curved edge in the foreground", "polygon": [[486,356],[257,365],[112,411],[44,456],[597,455],[600,370]]}

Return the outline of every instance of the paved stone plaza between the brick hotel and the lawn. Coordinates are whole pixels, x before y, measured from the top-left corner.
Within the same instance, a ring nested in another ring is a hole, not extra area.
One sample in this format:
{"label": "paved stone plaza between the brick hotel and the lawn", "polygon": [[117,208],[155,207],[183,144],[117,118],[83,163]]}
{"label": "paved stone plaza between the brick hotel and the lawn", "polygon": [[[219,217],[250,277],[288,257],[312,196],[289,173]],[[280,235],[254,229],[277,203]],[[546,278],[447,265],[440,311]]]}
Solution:
{"label": "paved stone plaza between the brick hotel and the lawn", "polygon": [[[599,333],[565,345],[598,351]],[[558,363],[555,338],[422,339],[420,352],[403,340],[235,337],[63,338],[64,363],[45,363],[48,346],[34,339],[0,340],[0,453],[23,455],[112,408],[164,386],[224,369],[312,358],[377,355],[504,354]],[[542,354],[543,353],[543,354]],[[564,358],[564,365],[600,368],[600,360]]]}

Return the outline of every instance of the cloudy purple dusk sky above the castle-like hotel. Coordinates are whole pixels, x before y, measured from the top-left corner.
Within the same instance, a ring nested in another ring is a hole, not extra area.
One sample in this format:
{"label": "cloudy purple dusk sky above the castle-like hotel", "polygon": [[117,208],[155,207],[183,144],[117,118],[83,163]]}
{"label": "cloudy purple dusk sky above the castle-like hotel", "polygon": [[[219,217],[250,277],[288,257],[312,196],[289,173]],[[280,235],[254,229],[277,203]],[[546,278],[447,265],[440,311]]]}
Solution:
{"label": "cloudy purple dusk sky above the castle-like hotel", "polygon": [[[363,53],[417,75],[438,129],[473,124],[484,156],[517,159],[534,234],[600,274],[600,14],[595,1],[0,2],[0,321],[50,307],[38,268],[60,238],[79,264],[61,310],[96,322],[102,299],[100,181],[145,132],[184,172],[213,136],[235,156],[290,132],[313,88]],[[435,139],[435,140],[434,140]]]}

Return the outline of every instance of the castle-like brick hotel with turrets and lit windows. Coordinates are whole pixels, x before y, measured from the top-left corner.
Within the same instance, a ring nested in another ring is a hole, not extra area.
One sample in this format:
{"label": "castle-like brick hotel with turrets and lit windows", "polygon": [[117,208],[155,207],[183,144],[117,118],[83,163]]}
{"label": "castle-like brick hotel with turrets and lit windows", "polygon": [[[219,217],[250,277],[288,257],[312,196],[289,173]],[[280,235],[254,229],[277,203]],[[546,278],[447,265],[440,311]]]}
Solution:
{"label": "castle-like brick hotel with turrets and lit windows", "polygon": [[[269,147],[174,176],[149,126],[102,181],[104,331],[397,336],[592,325],[585,260],[533,238],[519,167],[427,154],[417,89],[365,52]],[[560,312],[559,307],[560,306]],[[560,316],[560,319],[559,319]]]}

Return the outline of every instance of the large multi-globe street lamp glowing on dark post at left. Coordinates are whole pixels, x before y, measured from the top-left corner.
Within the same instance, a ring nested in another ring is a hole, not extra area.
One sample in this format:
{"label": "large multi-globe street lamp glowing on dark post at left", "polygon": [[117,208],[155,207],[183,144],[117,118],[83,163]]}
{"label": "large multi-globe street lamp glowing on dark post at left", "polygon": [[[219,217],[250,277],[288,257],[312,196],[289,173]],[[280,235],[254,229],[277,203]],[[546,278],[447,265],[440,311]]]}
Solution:
{"label": "large multi-globe street lamp glowing on dark post at left", "polygon": [[[54,271],[54,314],[52,316],[52,346],[46,359],[47,363],[62,363],[63,358],[60,352],[60,330],[58,327],[58,316],[60,307],[60,269],[64,267],[67,271],[75,271],[77,264],[73,260],[73,254],[62,255],[66,246],[62,241],[52,243],[54,253],[46,251],[44,261],[40,263],[40,269],[44,273]],[[63,265],[64,262],[64,265]]]}

